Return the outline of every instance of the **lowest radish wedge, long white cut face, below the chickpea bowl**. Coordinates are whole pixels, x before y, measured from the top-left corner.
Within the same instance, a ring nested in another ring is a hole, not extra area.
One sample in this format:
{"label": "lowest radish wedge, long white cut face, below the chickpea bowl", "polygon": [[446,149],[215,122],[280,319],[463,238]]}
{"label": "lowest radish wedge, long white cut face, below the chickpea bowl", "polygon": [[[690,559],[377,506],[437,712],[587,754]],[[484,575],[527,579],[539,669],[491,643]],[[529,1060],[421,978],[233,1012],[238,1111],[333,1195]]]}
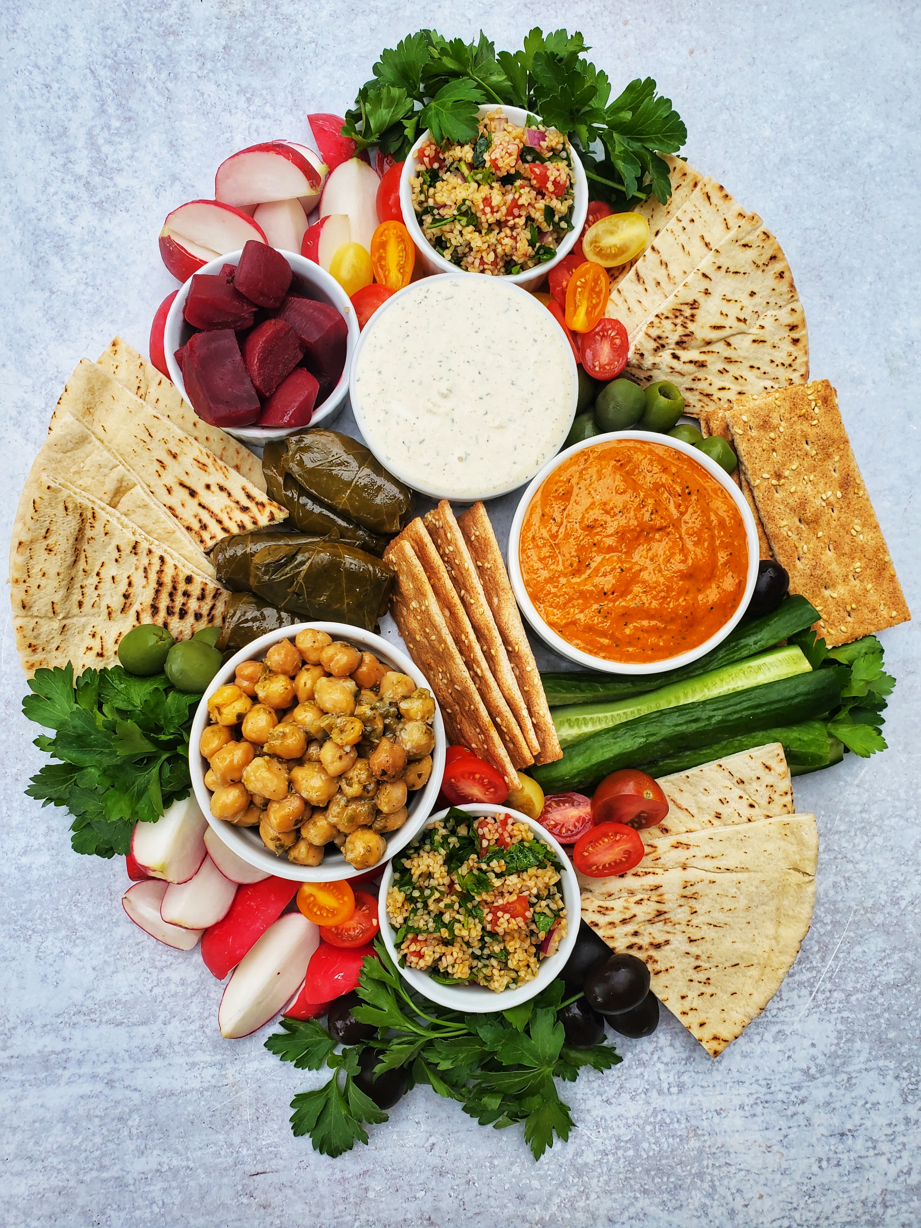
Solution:
{"label": "lowest radish wedge, long white cut face, below the chickpea bowl", "polygon": [[319,927],[300,912],[269,926],[227,982],[217,1011],[221,1035],[248,1036],[273,1019],[303,980],[318,943]]}

